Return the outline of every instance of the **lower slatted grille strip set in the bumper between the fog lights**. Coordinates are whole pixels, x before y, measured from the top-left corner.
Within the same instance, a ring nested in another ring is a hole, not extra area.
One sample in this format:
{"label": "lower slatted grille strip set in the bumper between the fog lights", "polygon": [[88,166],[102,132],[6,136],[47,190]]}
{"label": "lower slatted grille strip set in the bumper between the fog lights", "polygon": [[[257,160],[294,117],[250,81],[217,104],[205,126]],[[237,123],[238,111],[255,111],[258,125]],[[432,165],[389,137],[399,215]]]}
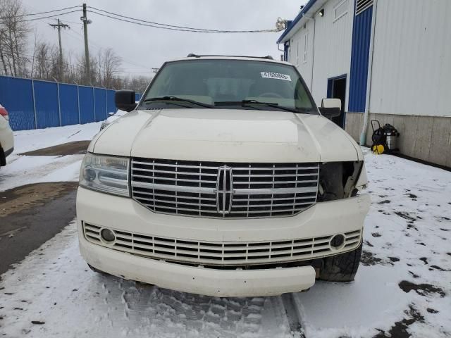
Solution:
{"label": "lower slatted grille strip set in the bumper between the fog lights", "polygon": [[268,242],[199,242],[113,230],[116,240],[105,243],[101,227],[83,223],[85,238],[94,244],[149,258],[205,265],[252,265],[304,261],[350,251],[359,246],[362,231],[346,232],[340,248],[330,245],[333,234],[323,237]]}

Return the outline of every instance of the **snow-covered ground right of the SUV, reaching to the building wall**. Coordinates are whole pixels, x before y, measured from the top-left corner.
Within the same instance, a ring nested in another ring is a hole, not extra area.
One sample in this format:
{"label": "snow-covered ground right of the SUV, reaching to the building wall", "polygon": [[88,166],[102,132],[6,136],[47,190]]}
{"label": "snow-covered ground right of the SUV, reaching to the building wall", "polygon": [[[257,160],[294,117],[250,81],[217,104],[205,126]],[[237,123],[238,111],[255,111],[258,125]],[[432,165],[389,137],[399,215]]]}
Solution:
{"label": "snow-covered ground right of the SUV, reaching to the building wall", "polygon": [[362,263],[352,284],[296,295],[306,336],[388,335],[413,318],[413,337],[451,337],[451,173],[364,151],[372,205]]}

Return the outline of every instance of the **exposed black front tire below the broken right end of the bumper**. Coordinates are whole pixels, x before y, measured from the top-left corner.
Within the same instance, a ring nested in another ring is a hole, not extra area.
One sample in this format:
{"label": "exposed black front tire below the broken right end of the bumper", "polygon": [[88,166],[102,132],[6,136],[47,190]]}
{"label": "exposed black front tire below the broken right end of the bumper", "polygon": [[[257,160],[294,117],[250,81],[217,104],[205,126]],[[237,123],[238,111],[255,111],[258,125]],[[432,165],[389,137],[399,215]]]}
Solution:
{"label": "exposed black front tire below the broken right end of the bumper", "polygon": [[319,279],[328,282],[351,282],[359,268],[360,256],[362,243],[353,251],[324,258]]}

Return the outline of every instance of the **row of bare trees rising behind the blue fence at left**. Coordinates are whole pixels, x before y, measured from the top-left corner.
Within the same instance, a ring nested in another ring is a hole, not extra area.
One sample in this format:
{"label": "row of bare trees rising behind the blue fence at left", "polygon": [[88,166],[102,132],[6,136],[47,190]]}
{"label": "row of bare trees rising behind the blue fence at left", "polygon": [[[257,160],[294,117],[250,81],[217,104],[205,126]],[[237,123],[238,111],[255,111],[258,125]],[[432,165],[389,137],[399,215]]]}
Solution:
{"label": "row of bare trees rising behind the blue fence at left", "polygon": [[[26,54],[30,30],[23,20],[25,14],[20,0],[0,0],[0,74],[49,81],[58,78],[69,83],[144,92],[150,79],[144,76],[121,76],[122,59],[112,48],[101,49],[97,56],[91,58],[89,79],[86,77],[85,54],[82,51],[77,54],[66,53],[61,65],[57,46],[38,39],[37,32],[32,55]],[[61,68],[62,78],[59,73]]]}

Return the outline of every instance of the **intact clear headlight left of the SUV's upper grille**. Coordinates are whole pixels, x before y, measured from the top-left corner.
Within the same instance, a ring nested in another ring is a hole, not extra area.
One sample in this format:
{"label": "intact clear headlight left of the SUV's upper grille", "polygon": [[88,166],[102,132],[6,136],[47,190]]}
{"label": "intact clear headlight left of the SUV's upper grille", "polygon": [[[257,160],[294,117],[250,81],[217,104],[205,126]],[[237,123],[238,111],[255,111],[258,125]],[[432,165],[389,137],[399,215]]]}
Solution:
{"label": "intact clear headlight left of the SUV's upper grille", "polygon": [[129,163],[129,158],[87,153],[80,170],[80,187],[128,197]]}

